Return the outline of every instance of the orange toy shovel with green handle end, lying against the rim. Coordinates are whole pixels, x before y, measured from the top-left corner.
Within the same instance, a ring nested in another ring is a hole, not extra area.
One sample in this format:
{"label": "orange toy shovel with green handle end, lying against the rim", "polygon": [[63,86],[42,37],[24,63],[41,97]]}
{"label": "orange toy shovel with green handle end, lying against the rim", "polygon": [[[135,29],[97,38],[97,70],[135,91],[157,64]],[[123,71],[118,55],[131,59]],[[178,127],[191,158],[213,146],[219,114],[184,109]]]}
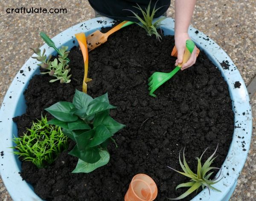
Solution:
{"label": "orange toy shovel with green handle end, lying against the rim", "polygon": [[100,46],[102,43],[105,43],[108,40],[109,35],[113,34],[114,32],[122,29],[125,26],[133,24],[134,22],[130,21],[123,21],[122,23],[116,25],[114,28],[109,30],[107,33],[103,34],[99,30],[93,32],[92,34],[87,36],[87,44],[89,52],[95,49],[96,47]]}

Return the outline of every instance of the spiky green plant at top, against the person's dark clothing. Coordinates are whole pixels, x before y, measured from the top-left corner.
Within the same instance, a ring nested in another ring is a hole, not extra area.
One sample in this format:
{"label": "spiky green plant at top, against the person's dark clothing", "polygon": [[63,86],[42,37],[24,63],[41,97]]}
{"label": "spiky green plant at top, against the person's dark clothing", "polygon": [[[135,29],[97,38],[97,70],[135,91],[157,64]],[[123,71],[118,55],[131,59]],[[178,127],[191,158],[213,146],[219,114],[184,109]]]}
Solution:
{"label": "spiky green plant at top, against the person's dark clothing", "polygon": [[[157,2],[158,2],[158,0],[157,0]],[[137,23],[137,24],[139,26],[141,26],[143,29],[145,29],[146,32],[148,33],[148,35],[151,36],[153,34],[157,37],[157,40],[160,40],[160,38],[162,39],[162,37],[157,32],[157,29],[160,28],[161,21],[166,19],[166,17],[161,17],[160,19],[156,20],[153,23],[153,18],[154,18],[155,13],[163,7],[163,6],[161,6],[156,9],[157,2],[155,3],[154,8],[151,13],[150,13],[151,0],[149,1],[148,8],[145,9],[145,11],[143,11],[143,9],[139,6],[139,4],[137,4],[138,7],[133,6],[134,8],[139,9],[141,11],[141,13],[143,14],[144,20],[138,14],[136,14],[134,11],[128,10],[128,9],[124,9],[124,10],[131,11],[135,15],[135,16],[131,16],[131,17],[135,17],[141,22],[141,24],[140,23]]]}

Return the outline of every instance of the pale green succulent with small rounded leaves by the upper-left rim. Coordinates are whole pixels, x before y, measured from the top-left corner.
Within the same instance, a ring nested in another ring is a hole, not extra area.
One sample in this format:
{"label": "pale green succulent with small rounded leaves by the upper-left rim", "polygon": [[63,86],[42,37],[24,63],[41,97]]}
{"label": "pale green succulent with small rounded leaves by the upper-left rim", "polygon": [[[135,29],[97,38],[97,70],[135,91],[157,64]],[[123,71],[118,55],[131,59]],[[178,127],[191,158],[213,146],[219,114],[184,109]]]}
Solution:
{"label": "pale green succulent with small rounded leaves by the upper-left rim", "polygon": [[45,54],[45,49],[43,50],[41,54],[41,49],[39,49],[40,44],[34,49],[34,53],[38,55],[38,57],[32,57],[41,63],[38,64],[38,66],[41,66],[43,69],[49,70],[48,72],[42,72],[41,74],[49,74],[51,76],[54,76],[56,79],[50,80],[50,82],[55,82],[59,80],[61,83],[70,83],[71,75],[68,75],[70,72],[69,65],[67,64],[67,56],[69,54],[69,51],[67,52],[68,46],[61,46],[59,49],[61,55],[58,55],[58,59],[54,59],[53,61],[50,61],[52,55],[49,55],[47,59],[47,55]]}

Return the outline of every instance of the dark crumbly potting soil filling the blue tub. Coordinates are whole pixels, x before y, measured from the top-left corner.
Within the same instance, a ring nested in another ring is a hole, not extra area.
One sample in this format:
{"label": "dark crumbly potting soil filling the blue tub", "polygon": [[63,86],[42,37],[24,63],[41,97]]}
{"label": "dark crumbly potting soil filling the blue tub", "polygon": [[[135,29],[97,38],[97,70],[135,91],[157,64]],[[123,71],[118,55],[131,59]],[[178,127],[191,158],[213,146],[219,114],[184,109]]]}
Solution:
{"label": "dark crumbly potting soil filling the blue tub", "polygon": [[[48,201],[123,201],[134,175],[145,173],[157,184],[157,201],[175,198],[187,190],[175,187],[189,178],[167,168],[181,170],[178,157],[185,149],[189,166],[195,171],[204,149],[206,158],[217,144],[218,157],[212,166],[221,167],[234,129],[234,114],[227,83],[221,72],[201,52],[194,66],[177,74],[161,86],[157,98],[148,95],[147,79],[155,71],[170,72],[174,37],[161,42],[139,26],[131,25],[108,37],[108,42],[89,53],[88,94],[93,98],[108,92],[117,106],[111,116],[126,127],[114,135],[118,148],[110,144],[107,165],[85,174],[73,174],[77,158],[68,155],[74,146],[59,155],[47,168],[22,163],[20,175],[35,192]],[[77,47],[69,56],[70,84],[49,83],[48,75],[35,75],[25,92],[26,113],[14,118],[18,135],[41,118],[44,108],[58,101],[72,101],[75,89],[81,91],[83,57]],[[48,119],[51,116],[48,114]],[[232,167],[230,167],[232,168]],[[194,197],[195,192],[184,200]]]}

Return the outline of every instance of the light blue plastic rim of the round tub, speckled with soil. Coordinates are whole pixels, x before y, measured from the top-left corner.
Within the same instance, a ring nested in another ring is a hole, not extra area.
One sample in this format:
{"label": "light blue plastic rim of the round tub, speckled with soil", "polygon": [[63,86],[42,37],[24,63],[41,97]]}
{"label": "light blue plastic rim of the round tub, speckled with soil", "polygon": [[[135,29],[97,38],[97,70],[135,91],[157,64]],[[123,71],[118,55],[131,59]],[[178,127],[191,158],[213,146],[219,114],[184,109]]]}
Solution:
{"label": "light blue plastic rim of the round tub, speckled with soil", "polygon": [[[103,23],[99,23],[99,20]],[[113,19],[108,17],[93,18],[66,29],[64,32],[53,37],[52,40],[55,42],[57,48],[62,45],[71,48],[78,46],[78,42],[75,38],[76,33],[85,32],[85,34],[88,35],[102,27],[112,26],[113,23]],[[162,24],[161,28],[165,35],[174,34],[174,20],[172,18],[166,18]],[[192,201],[228,201],[235,190],[237,179],[244,167],[250,147],[252,134],[250,100],[244,81],[227,53],[208,36],[199,32],[192,26],[189,27],[189,35],[195,44],[201,50],[204,50],[227,81],[230,97],[233,100],[233,112],[235,114],[233,140],[230,144],[230,149],[224,164],[222,165],[221,177],[224,178],[217,184],[214,184],[214,187],[220,189],[221,192],[210,190],[209,195],[208,190],[205,189],[196,195]],[[46,44],[41,47],[41,49],[44,48],[46,49],[46,55],[55,54],[55,51]],[[229,69],[222,68],[220,64],[222,62],[229,65]],[[17,159],[17,156],[13,154],[13,150],[9,148],[13,146],[13,135],[17,135],[17,126],[12,121],[12,118],[17,115],[22,115],[26,111],[23,92],[28,86],[29,80],[35,74],[39,74],[39,68],[36,63],[35,59],[30,57],[22,66],[20,70],[22,70],[26,76],[23,76],[20,72],[17,73],[6,92],[0,109],[0,152],[3,151],[2,153],[4,154],[0,156],[0,174],[14,201],[42,201],[42,199],[35,194],[31,185],[26,183],[26,181],[22,181],[19,174],[21,163]],[[241,83],[240,88],[234,87],[236,81]],[[219,173],[220,172],[218,172],[218,174]]]}

